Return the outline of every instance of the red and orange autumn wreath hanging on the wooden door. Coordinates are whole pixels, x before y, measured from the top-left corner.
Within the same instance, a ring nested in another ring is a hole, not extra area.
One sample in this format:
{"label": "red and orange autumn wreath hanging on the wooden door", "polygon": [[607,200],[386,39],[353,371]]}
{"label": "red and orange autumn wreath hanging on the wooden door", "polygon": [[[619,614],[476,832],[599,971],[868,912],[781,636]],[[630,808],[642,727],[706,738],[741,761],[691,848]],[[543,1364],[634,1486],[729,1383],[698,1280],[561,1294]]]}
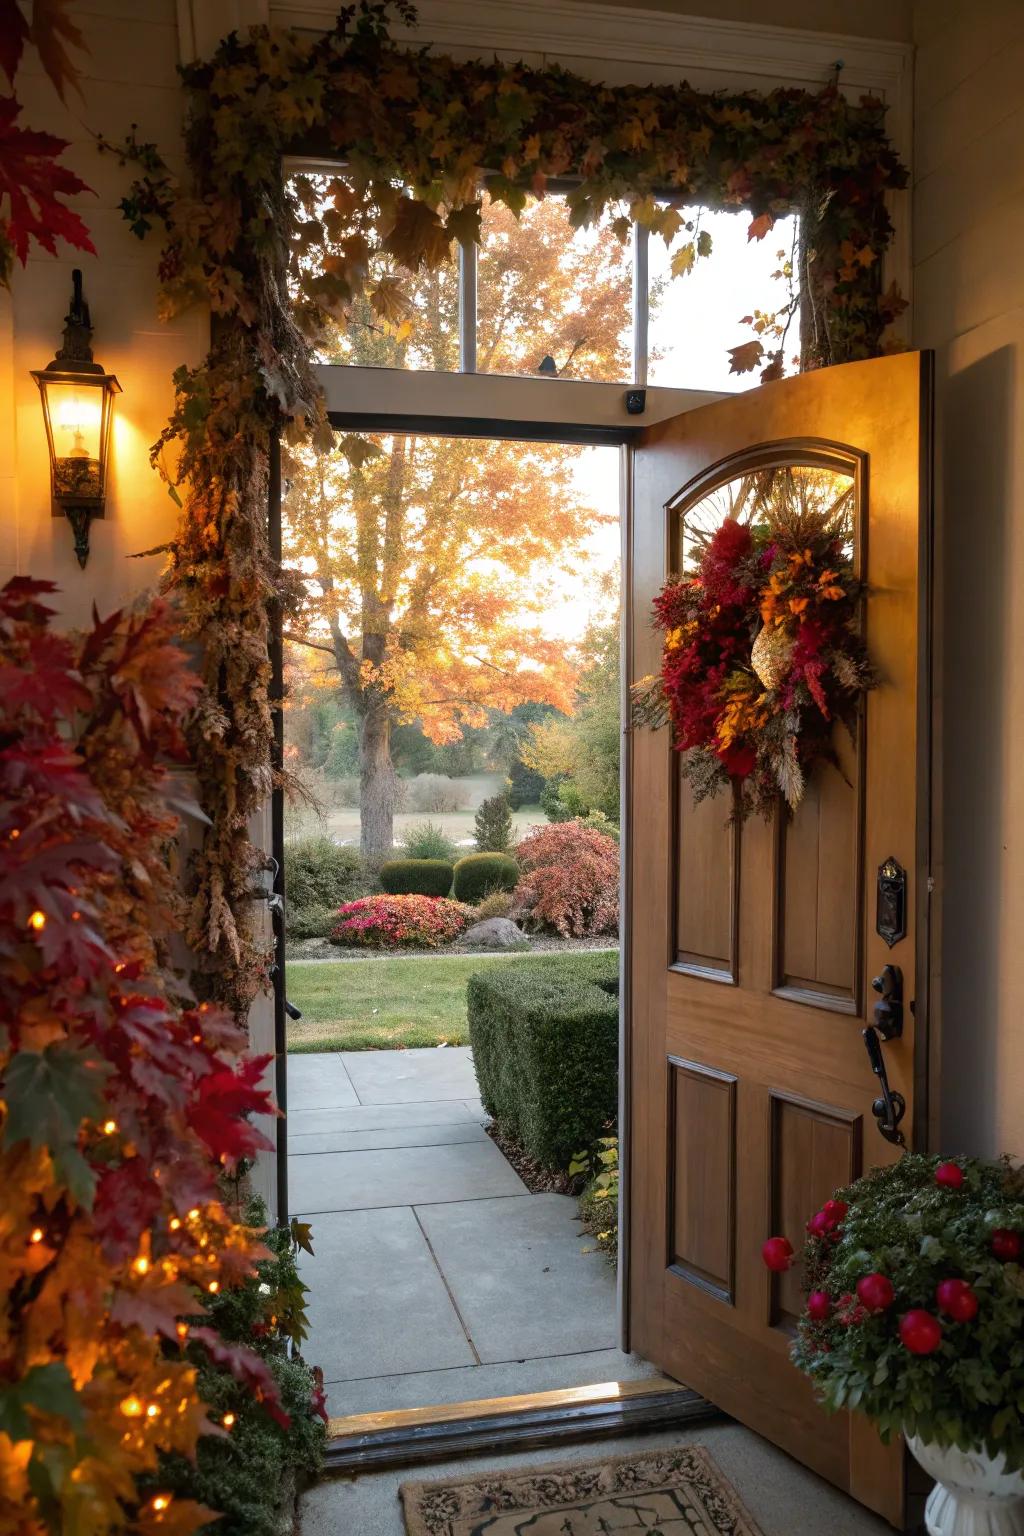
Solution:
{"label": "red and orange autumn wreath hanging on the wooden door", "polygon": [[[837,485],[838,482],[838,485]],[[634,688],[648,725],[671,720],[695,800],[735,786],[735,814],[791,809],[835,763],[874,688],[854,565],[854,482],[778,468],[725,490],[728,516],[692,533],[689,570],[654,602],[662,671]],[[712,502],[714,505],[714,502]]]}

